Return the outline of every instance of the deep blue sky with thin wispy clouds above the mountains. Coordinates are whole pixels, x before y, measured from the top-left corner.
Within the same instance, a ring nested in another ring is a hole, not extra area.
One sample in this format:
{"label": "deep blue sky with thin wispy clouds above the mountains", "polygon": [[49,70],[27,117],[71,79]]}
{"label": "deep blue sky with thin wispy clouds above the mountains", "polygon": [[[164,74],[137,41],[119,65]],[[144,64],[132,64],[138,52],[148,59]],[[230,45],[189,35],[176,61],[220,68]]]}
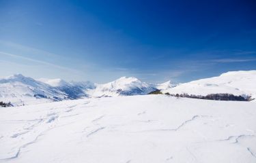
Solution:
{"label": "deep blue sky with thin wispy clouds above the mountains", "polygon": [[253,1],[1,1],[0,76],[188,82],[256,69]]}

